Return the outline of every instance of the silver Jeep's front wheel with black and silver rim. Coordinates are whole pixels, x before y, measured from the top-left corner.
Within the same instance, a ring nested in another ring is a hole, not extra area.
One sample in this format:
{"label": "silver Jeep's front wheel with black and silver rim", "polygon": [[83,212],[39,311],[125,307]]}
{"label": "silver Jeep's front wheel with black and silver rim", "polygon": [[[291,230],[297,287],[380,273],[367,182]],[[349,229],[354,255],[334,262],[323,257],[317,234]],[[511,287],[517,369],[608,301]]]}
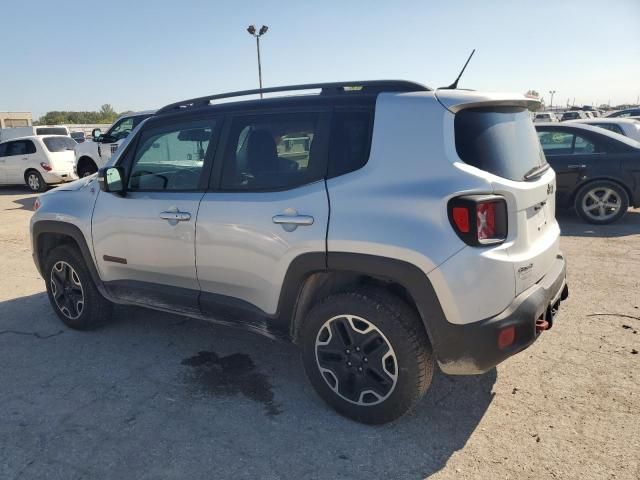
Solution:
{"label": "silver Jeep's front wheel with black and silver rim", "polygon": [[112,304],[96,288],[77,248],[53,249],[45,260],[43,277],[49,302],[68,327],[91,330],[111,317]]}

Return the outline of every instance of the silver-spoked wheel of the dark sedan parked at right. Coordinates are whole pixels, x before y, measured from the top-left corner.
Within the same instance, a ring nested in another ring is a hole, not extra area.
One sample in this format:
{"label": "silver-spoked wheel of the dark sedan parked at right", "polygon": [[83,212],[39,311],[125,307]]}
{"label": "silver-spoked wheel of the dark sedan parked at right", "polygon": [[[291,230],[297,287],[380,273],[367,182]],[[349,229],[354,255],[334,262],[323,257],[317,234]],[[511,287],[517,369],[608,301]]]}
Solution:
{"label": "silver-spoked wheel of the dark sedan parked at right", "polygon": [[575,198],[576,212],[588,223],[606,225],[622,218],[629,208],[629,195],[615,182],[597,180],[584,185]]}

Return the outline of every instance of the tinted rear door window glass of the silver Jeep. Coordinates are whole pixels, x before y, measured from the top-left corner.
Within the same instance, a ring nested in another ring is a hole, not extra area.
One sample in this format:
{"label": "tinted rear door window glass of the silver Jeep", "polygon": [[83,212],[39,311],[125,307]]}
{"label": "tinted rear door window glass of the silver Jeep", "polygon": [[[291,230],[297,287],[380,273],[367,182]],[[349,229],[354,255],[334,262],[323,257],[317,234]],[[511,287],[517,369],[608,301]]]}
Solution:
{"label": "tinted rear door window glass of the silver Jeep", "polygon": [[293,188],[324,176],[317,144],[316,113],[237,117],[227,140],[222,188]]}

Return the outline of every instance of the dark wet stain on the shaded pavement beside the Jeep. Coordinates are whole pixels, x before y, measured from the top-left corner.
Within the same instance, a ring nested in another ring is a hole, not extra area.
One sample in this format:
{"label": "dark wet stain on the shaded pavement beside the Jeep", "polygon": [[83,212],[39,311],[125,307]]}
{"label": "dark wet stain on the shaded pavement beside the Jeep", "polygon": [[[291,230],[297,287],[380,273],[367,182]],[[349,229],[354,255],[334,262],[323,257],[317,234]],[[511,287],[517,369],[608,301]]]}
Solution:
{"label": "dark wet stain on the shaded pavement beside the Jeep", "polygon": [[189,379],[204,393],[216,396],[241,394],[262,403],[269,416],[282,413],[273,401],[269,379],[256,371],[249,355],[234,353],[220,357],[215,352],[198,352],[181,363],[193,367]]}

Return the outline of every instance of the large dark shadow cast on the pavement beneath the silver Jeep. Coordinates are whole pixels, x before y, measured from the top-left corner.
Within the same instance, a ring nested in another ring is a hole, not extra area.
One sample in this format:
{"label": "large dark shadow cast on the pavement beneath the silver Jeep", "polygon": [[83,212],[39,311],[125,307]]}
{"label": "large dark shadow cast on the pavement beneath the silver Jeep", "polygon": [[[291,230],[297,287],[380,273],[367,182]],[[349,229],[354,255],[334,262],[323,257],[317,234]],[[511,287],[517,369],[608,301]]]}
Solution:
{"label": "large dark shadow cast on the pavement beneath the silver Jeep", "polygon": [[0,302],[0,352],[9,477],[422,479],[465,446],[497,378],[437,372],[413,412],[367,426],[319,399],[293,345],[124,306],[78,332],[44,293]]}

